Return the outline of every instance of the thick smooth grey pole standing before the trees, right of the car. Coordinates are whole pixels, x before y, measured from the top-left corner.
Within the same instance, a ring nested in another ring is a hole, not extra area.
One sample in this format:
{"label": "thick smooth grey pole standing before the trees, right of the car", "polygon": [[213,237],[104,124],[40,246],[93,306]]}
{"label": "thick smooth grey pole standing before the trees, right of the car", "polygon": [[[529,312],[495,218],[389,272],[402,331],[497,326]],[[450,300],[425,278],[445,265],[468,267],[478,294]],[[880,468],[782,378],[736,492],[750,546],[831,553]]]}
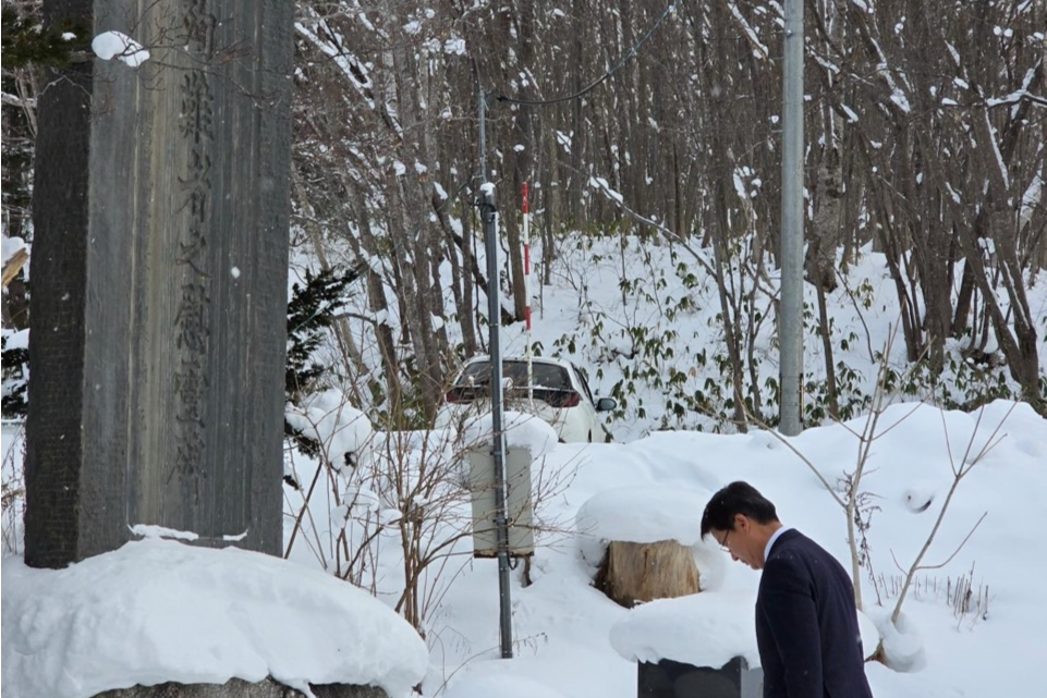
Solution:
{"label": "thick smooth grey pole standing before the trees, right of the car", "polygon": [[803,430],[803,0],[786,0],[781,130],[781,344],[779,429]]}

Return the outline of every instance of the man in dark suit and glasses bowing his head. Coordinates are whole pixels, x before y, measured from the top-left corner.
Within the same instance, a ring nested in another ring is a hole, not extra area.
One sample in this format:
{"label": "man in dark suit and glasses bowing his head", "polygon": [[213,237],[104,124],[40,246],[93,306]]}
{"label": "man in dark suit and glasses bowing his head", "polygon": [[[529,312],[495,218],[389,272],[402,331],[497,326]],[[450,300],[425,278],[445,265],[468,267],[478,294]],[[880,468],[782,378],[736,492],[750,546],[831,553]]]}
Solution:
{"label": "man in dark suit and glasses bowing his head", "polygon": [[713,495],[702,514],[706,535],[764,571],[756,597],[764,698],[872,698],[854,589],[832,555],[782,526],[775,505],[747,482]]}

